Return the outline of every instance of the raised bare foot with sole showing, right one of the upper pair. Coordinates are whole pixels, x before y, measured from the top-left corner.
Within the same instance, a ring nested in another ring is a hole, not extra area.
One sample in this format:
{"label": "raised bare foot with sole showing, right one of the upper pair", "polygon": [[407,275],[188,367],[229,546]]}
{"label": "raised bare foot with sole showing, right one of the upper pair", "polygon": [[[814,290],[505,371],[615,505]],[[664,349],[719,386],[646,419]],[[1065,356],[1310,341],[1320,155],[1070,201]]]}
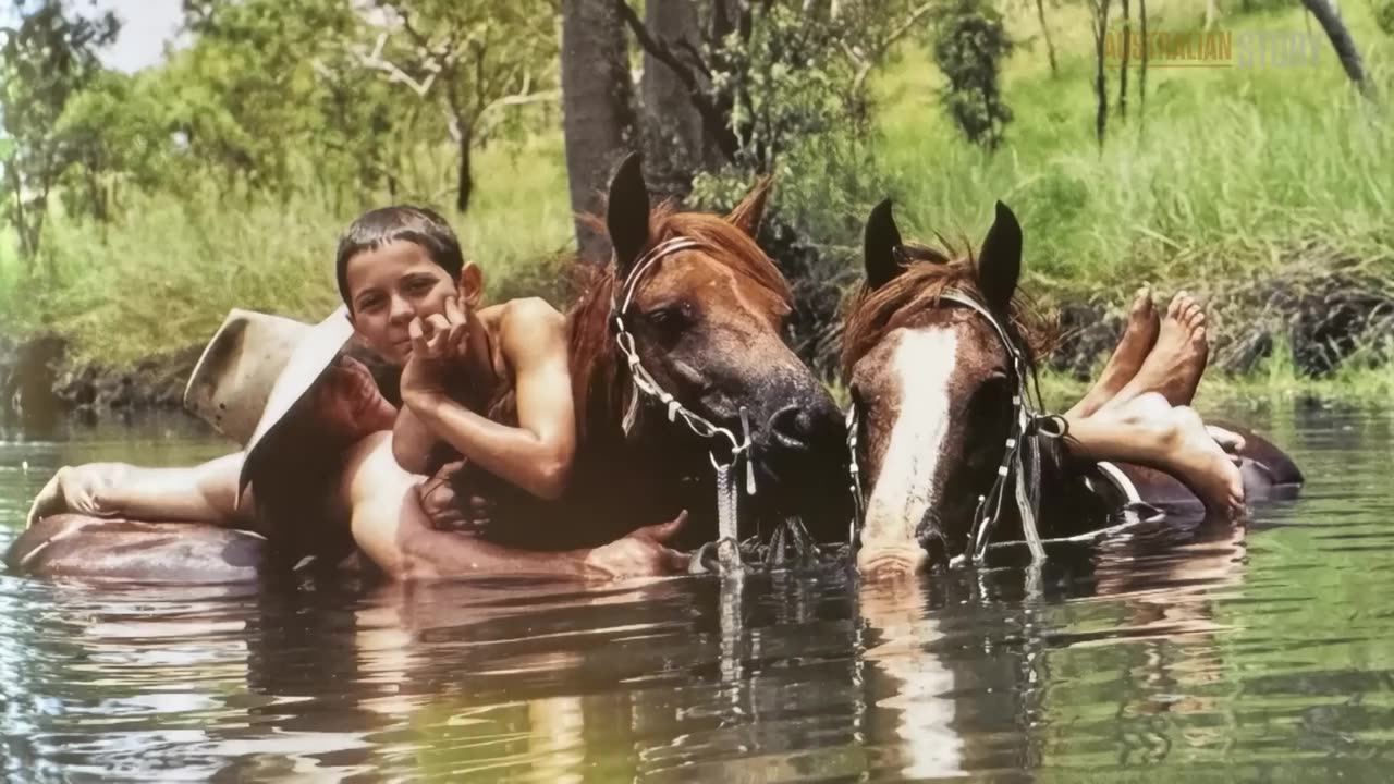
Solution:
{"label": "raised bare foot with sole showing, right one of the upper pair", "polygon": [[1189,406],[1209,359],[1204,310],[1195,297],[1181,292],[1167,307],[1157,345],[1138,375],[1103,409],[1121,406],[1144,392],[1160,392],[1172,406]]}

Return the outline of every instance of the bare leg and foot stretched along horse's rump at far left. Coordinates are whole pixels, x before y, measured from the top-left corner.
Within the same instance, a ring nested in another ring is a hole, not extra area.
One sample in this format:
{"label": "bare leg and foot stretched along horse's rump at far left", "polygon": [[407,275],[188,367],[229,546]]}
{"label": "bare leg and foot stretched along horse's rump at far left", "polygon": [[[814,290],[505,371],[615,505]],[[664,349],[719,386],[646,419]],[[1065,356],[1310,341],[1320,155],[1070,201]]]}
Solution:
{"label": "bare leg and foot stretched along horse's rump at far left", "polygon": [[64,466],[33,499],[28,525],[60,512],[230,527],[250,525],[250,492],[237,504],[243,458],[243,452],[234,452],[174,469],[142,469],[127,463]]}

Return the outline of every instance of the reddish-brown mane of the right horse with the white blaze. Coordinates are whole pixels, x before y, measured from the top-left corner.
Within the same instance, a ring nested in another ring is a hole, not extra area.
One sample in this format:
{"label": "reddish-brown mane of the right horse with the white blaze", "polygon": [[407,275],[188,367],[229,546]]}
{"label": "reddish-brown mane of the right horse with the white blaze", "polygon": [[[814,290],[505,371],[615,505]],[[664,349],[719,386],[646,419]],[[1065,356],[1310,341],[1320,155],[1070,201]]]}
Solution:
{"label": "reddish-brown mane of the right horse with the white blaze", "polygon": [[[895,252],[905,266],[903,272],[875,290],[863,283],[848,304],[842,328],[845,378],[852,378],[856,361],[874,349],[887,333],[905,326],[926,308],[934,307],[945,289],[956,289],[979,301],[986,301],[977,286],[977,262],[970,246],[965,254],[956,257],[948,243],[945,250],[906,243]],[[1020,290],[1012,299],[1006,315],[1008,324],[1004,326],[1025,349],[1027,361],[1034,367],[1036,357],[1054,342],[1054,331],[1036,314]]]}

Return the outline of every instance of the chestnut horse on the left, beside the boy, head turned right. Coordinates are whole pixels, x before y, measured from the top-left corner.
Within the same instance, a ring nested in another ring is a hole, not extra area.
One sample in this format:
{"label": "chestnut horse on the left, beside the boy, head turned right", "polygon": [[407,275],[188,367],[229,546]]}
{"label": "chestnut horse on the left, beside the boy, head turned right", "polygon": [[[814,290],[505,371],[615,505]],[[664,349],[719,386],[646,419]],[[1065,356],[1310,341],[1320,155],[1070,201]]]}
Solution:
{"label": "chestnut horse on the left, beside the boy, head turned right", "polygon": [[[846,430],[827,389],[782,339],[793,310],[789,286],[754,241],[767,195],[768,183],[758,184],[725,218],[654,208],[637,156],[619,166],[605,220],[615,254],[605,266],[579,262],[585,287],[567,312],[580,430],[570,490],[539,501],[466,466],[453,483],[499,502],[488,538],[533,550],[598,545],[687,509],[676,544],[714,540],[714,462],[735,463],[742,537],[781,530],[796,534],[782,543],[806,544],[803,533],[846,538]],[[510,407],[505,398],[492,416],[509,419]],[[782,527],[792,519],[803,527]],[[11,545],[7,562],[31,573],[192,572],[215,582],[263,566],[263,543],[251,534],[123,522],[96,536],[103,529],[93,522],[64,515],[36,526]],[[50,540],[61,548],[38,557]]]}

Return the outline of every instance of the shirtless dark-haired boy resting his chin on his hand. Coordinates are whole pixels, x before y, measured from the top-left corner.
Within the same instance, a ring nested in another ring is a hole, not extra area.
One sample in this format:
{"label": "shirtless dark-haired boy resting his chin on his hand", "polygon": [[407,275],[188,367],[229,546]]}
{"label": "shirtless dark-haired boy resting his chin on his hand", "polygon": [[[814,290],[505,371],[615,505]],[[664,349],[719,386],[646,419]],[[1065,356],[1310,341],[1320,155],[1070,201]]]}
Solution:
{"label": "shirtless dark-haired boy resting his chin on his hand", "polygon": [[[354,332],[403,368],[392,451],[404,470],[435,473],[453,451],[533,495],[562,495],[576,410],[560,312],[535,297],[481,308],[480,268],[424,208],[354,220],[336,275]],[[489,417],[505,402],[516,424]]]}

